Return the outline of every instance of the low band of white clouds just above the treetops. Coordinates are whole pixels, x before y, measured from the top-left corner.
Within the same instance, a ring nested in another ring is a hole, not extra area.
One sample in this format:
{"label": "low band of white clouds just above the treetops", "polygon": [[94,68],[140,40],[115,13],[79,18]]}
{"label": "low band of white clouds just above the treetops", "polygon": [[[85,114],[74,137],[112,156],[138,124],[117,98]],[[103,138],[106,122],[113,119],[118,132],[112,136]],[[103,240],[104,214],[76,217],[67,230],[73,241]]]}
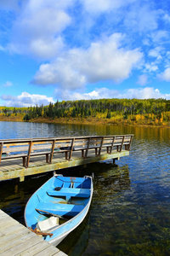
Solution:
{"label": "low band of white clouds just above the treetops", "polygon": [[[55,90],[56,98],[62,100],[75,101],[75,100],[91,100],[91,99],[103,99],[103,98],[127,98],[127,99],[149,99],[149,98],[166,98],[170,100],[170,94],[162,94],[160,90],[154,89],[153,87],[145,87],[143,89],[128,89],[123,91],[110,90],[108,88],[96,88],[88,93],[72,92],[70,90]],[[7,107],[31,107],[31,106],[47,106],[49,102],[54,103],[53,97],[29,94],[22,92],[20,96],[1,96],[3,100],[3,106]]]}

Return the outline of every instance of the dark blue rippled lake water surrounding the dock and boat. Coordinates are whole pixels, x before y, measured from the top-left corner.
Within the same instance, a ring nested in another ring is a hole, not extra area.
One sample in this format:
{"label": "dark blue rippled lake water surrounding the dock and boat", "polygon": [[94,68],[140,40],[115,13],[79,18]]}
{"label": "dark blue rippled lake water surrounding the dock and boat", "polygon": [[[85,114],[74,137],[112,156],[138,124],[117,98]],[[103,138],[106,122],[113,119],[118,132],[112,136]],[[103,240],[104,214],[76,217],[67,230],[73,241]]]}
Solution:
{"label": "dark blue rippled lake water surrounding the dock and boat", "polygon": [[[94,172],[87,218],[59,249],[77,255],[170,255],[170,130],[152,127],[0,122],[0,139],[134,134],[130,155],[65,170]],[[0,207],[24,224],[26,201],[52,173],[1,182]]]}

